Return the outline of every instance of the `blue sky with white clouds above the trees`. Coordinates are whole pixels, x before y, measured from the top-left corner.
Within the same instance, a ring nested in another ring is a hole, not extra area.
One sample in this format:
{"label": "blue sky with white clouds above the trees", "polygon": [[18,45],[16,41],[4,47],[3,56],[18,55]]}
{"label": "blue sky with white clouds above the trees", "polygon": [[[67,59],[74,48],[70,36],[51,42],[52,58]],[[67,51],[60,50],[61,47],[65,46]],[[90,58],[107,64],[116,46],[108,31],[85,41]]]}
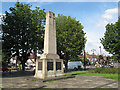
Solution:
{"label": "blue sky with white clouds above the trees", "polygon": [[[0,4],[2,5],[2,14],[15,4],[15,2],[5,1],[2,1],[2,4]],[[96,2],[96,0],[89,0],[89,2],[88,0],[85,0],[84,2],[82,0],[69,0],[71,2],[61,2],[59,0],[57,0],[59,2],[55,2],[55,0],[48,1],[50,2],[46,2],[45,0],[39,2],[37,0],[28,0],[24,3],[30,3],[32,9],[39,6],[41,9],[45,9],[46,12],[52,11],[56,16],[58,14],[63,14],[65,16],[76,17],[76,20],[80,21],[86,32],[86,52],[92,53],[91,50],[95,49],[95,53],[99,54],[99,46],[101,46],[102,54],[108,55],[108,52],[106,52],[103,49],[102,44],[100,44],[100,38],[104,36],[105,25],[114,23],[118,19],[118,0],[114,0],[116,2],[113,2],[113,0],[102,0],[102,2]]]}

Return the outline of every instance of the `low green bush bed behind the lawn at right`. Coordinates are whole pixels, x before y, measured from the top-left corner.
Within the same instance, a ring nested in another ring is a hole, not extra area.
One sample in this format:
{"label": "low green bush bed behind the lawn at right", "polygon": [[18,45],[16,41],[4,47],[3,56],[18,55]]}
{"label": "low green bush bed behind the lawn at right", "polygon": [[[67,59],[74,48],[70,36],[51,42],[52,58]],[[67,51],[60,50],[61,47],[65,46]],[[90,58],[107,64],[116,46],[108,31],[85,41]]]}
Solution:
{"label": "low green bush bed behind the lawn at right", "polygon": [[113,67],[100,67],[93,70],[89,70],[90,73],[102,73],[102,74],[118,74],[118,69]]}

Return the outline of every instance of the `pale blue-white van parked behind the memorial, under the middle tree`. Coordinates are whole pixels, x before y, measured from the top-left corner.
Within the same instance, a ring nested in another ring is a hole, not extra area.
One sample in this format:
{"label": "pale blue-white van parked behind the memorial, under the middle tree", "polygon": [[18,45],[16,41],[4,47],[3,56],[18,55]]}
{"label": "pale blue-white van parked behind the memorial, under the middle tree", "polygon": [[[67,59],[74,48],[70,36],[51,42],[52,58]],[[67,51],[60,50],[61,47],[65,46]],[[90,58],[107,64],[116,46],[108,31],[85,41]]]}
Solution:
{"label": "pale blue-white van parked behind the memorial, under the middle tree", "polygon": [[80,69],[83,66],[81,61],[68,62],[68,69]]}

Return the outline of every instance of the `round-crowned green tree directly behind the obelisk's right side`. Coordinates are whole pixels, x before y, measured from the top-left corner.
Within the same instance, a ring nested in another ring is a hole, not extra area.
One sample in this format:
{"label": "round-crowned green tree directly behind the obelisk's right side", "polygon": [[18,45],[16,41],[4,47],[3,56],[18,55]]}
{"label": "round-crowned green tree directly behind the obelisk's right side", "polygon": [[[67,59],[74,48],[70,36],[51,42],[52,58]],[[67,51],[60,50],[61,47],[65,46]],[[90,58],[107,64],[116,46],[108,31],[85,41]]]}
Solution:
{"label": "round-crowned green tree directly behind the obelisk's right side", "polygon": [[65,71],[68,60],[78,57],[85,47],[83,26],[75,18],[58,14],[56,17],[57,53],[64,59]]}

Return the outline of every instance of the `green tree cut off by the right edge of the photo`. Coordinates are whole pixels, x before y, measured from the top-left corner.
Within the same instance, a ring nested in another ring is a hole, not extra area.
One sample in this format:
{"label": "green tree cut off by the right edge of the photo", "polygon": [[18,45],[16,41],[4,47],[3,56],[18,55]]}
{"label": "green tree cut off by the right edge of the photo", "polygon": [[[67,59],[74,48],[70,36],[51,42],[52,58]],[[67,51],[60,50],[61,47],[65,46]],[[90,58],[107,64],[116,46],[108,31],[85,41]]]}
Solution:
{"label": "green tree cut off by the right edge of the photo", "polygon": [[120,58],[120,18],[115,24],[106,25],[104,37],[100,40],[106,51]]}

